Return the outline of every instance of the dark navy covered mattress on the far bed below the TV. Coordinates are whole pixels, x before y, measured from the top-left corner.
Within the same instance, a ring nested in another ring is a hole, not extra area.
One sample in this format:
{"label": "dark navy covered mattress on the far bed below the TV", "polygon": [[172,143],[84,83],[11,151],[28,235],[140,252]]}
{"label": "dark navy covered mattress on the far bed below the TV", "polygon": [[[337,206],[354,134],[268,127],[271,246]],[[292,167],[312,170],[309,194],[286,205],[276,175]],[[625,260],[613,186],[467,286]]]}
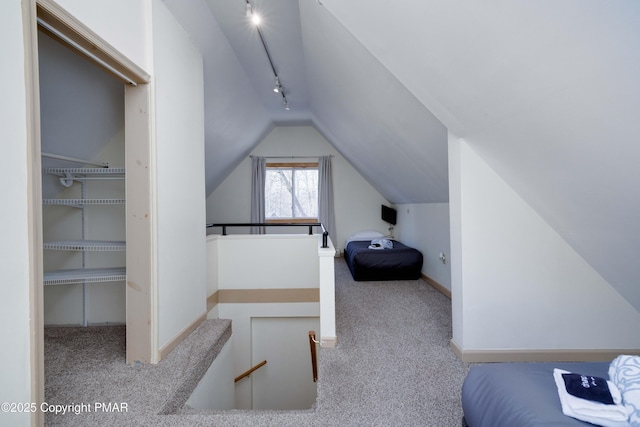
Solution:
{"label": "dark navy covered mattress on the far bed below the TV", "polygon": [[354,280],[415,280],[422,271],[422,253],[392,240],[392,249],[369,249],[370,240],[347,243],[344,257]]}

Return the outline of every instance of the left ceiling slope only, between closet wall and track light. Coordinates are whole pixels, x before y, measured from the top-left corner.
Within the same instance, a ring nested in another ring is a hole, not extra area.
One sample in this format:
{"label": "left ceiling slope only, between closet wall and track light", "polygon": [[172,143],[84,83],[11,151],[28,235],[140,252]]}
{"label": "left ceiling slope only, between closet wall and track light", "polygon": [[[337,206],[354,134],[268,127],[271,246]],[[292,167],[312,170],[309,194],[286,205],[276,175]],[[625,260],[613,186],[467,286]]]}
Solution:
{"label": "left ceiling slope only, between closet wall and track light", "polygon": [[[244,10],[241,0],[229,3]],[[203,53],[208,195],[269,133],[273,120],[206,2],[165,4]]]}

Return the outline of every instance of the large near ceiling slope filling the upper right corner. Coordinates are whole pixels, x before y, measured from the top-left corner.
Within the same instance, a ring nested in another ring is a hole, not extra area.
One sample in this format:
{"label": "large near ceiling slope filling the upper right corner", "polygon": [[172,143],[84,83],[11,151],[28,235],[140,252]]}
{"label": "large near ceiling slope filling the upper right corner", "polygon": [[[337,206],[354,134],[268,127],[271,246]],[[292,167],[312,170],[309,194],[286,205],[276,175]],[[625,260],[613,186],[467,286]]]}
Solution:
{"label": "large near ceiling slope filling the upper right corner", "polygon": [[640,3],[323,3],[640,309]]}

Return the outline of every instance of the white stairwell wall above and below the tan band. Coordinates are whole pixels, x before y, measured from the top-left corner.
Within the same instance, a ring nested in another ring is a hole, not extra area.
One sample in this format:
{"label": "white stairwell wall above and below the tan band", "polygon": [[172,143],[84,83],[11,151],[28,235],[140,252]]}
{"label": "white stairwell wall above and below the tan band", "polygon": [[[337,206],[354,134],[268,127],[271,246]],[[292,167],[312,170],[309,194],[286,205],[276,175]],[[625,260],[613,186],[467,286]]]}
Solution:
{"label": "white stairwell wall above and below the tan band", "polygon": [[[218,269],[210,269],[218,290],[297,289],[319,287],[317,235],[210,235],[209,259],[219,257]],[[216,244],[213,245],[213,242]],[[234,373],[249,369],[255,360],[252,350],[252,319],[271,317],[318,317],[318,302],[229,303],[221,301],[217,313],[233,323]],[[325,313],[323,313],[324,315]],[[333,314],[335,316],[335,314]],[[307,353],[308,355],[308,353]],[[236,385],[236,408],[251,409],[251,382]]]}

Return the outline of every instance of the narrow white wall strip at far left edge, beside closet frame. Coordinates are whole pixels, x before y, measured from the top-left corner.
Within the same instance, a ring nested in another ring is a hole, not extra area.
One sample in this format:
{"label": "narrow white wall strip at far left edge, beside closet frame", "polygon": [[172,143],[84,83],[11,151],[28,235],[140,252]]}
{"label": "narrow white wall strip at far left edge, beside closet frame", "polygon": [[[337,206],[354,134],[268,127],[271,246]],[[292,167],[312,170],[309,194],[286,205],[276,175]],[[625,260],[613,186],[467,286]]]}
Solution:
{"label": "narrow white wall strip at far left edge, beside closet frame", "polygon": [[[0,157],[10,182],[4,186],[0,210],[0,401],[31,401],[29,333],[29,229],[27,224],[27,117],[22,8],[20,0],[0,3],[0,98],[3,143]],[[28,413],[0,413],[0,424],[27,426]]]}

